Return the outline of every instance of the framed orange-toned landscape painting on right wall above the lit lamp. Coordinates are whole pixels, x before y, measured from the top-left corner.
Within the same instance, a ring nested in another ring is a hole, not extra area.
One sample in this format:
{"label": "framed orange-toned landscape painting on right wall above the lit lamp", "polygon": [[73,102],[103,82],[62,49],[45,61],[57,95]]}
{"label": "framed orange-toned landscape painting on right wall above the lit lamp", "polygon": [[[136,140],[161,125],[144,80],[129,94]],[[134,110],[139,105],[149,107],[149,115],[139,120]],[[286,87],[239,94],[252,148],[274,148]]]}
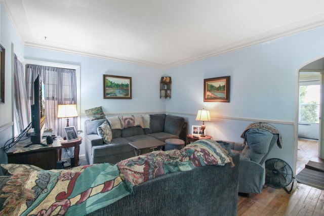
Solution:
{"label": "framed orange-toned landscape painting on right wall above the lit lamp", "polygon": [[230,76],[204,79],[204,102],[229,103]]}

